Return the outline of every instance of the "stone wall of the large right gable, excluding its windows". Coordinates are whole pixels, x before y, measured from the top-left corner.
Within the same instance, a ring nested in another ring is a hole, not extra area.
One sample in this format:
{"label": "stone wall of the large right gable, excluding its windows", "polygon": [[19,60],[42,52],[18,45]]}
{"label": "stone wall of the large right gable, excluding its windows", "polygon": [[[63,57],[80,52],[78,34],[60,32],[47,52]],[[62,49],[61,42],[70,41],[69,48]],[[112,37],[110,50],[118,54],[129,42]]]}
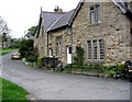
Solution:
{"label": "stone wall of the large right gable, excluding its windows", "polygon": [[106,2],[99,3],[101,5],[100,22],[90,24],[89,7],[91,4],[94,3],[85,2],[73,22],[73,54],[76,52],[77,44],[80,44],[85,48],[85,61],[90,63],[91,60],[88,60],[87,41],[103,38],[106,58],[95,61],[109,65],[132,59],[131,21],[113,3]]}

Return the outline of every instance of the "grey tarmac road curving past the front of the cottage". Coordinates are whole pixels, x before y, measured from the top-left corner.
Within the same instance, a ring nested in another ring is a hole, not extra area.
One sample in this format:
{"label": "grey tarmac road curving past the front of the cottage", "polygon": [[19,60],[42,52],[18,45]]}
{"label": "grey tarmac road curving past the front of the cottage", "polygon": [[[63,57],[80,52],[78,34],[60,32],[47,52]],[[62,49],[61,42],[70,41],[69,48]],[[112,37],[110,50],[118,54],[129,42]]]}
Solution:
{"label": "grey tarmac road curving past the front of the cottage", "polygon": [[57,73],[26,67],[21,60],[2,57],[2,77],[26,89],[35,100],[130,100],[130,82]]}

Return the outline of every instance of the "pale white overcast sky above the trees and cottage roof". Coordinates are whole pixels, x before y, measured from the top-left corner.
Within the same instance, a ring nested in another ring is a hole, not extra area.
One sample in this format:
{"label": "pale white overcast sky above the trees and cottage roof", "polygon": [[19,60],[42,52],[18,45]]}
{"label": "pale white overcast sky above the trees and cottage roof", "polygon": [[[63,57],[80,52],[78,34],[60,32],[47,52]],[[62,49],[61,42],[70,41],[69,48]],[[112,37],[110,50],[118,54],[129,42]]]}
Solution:
{"label": "pale white overcast sky above the trees and cottage roof", "polygon": [[43,11],[53,12],[55,5],[63,11],[75,9],[80,0],[0,0],[0,16],[8,23],[10,35],[15,38],[24,36],[25,31],[37,25],[41,7]]}

